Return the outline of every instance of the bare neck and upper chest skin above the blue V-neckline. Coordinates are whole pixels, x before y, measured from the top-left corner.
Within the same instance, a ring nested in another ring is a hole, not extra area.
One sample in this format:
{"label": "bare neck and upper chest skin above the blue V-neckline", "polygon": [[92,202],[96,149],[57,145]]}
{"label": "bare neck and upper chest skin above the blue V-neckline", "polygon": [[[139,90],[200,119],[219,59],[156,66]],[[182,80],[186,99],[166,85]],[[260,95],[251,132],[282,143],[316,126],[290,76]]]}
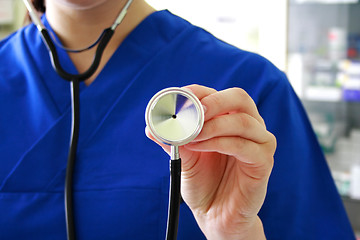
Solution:
{"label": "bare neck and upper chest skin above the blue V-neckline", "polygon": [[[91,45],[105,28],[111,26],[126,3],[127,0],[99,0],[92,6],[74,7],[66,0],[47,0],[46,17],[65,47],[80,49]],[[144,0],[133,0],[126,17],[116,28],[104,51],[98,71],[87,84],[95,79],[126,36],[152,12],[154,9]],[[90,66],[95,49],[69,54],[79,72]]]}

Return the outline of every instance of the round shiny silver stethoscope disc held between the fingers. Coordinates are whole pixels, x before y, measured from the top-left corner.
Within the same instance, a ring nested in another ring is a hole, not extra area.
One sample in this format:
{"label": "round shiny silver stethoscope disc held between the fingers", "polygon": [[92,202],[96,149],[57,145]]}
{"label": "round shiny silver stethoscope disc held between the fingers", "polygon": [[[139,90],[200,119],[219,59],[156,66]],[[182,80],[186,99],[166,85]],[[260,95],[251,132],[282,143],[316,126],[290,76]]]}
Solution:
{"label": "round shiny silver stethoscope disc held between the fingers", "polygon": [[199,135],[204,125],[204,109],[192,92],[178,87],[166,88],[149,101],[145,121],[159,142],[182,146]]}

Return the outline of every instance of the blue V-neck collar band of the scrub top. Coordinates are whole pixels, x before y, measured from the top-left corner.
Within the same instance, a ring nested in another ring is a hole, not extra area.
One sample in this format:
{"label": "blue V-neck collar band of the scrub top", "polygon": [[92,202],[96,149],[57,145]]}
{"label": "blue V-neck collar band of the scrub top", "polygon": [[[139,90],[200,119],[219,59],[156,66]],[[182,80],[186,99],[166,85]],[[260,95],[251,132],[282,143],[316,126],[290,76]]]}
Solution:
{"label": "blue V-neck collar band of the scrub top", "polygon": [[[89,86],[81,83],[80,119],[82,120],[79,143],[84,143],[102,125],[104,119],[111,113],[114,104],[130,88],[144,66],[173,41],[180,31],[190,26],[188,23],[179,24],[178,20],[172,22],[171,19],[174,19],[174,16],[167,10],[148,15],[118,46],[94,82]],[[43,17],[43,21],[44,25],[50,28],[46,17]],[[162,31],[165,28],[168,29],[167,32]],[[44,47],[41,51],[42,56],[46,55]],[[78,72],[68,53],[59,47],[57,51],[62,66],[68,71]],[[37,53],[34,52],[34,54]],[[52,69],[50,61],[45,61],[45,63],[44,59],[37,61],[43,73],[44,82],[50,93],[54,95],[55,104],[60,106],[60,116],[69,114],[69,85],[55,71],[49,70]]]}

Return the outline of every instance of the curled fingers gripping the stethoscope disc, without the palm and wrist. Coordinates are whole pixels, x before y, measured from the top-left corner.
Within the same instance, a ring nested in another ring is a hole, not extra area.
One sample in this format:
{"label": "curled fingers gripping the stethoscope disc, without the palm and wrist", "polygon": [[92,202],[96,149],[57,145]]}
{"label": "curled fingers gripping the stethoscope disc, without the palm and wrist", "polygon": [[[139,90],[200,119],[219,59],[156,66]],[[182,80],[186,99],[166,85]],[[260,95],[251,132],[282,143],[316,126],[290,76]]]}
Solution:
{"label": "curled fingers gripping the stethoscope disc, without the palm and wrist", "polygon": [[[273,156],[275,137],[266,130],[254,101],[244,90],[231,88],[218,92],[200,85],[184,88],[193,92],[207,109],[204,127],[187,149],[219,152],[253,163],[255,152],[251,149],[259,148],[266,152],[264,155]],[[148,132],[147,135],[169,152],[169,146],[159,143]],[[251,147],[245,149],[245,145]]]}

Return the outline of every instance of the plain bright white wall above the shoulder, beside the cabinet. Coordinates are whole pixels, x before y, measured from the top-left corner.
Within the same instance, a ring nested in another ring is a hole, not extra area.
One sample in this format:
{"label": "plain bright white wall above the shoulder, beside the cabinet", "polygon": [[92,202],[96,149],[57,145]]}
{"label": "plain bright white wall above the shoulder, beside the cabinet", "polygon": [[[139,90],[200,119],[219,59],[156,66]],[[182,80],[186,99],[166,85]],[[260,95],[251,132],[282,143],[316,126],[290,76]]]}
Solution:
{"label": "plain bright white wall above the shoulder, beside the cabinet", "polygon": [[286,66],[287,0],[147,0],[241,49]]}

